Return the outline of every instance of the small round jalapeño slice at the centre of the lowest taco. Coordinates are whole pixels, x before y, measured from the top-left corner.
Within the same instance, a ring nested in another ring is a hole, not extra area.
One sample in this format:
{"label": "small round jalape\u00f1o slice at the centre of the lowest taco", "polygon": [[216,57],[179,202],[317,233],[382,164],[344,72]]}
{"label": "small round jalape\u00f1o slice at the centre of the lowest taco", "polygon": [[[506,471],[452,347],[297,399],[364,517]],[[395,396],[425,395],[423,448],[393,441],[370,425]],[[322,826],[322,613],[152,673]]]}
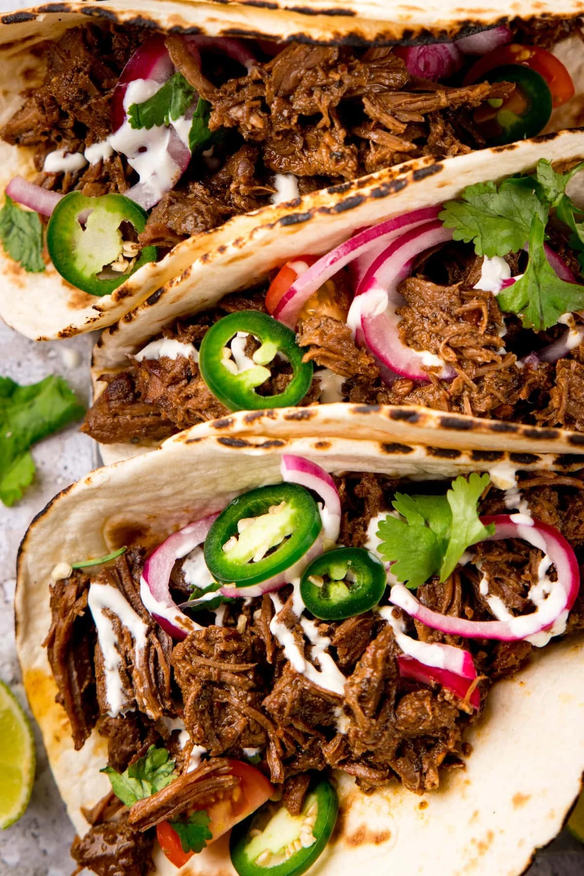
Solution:
{"label": "small round jalape\u00f1o slice at the centre of the lowest taco", "polygon": [[300,595],[320,620],[353,618],[376,605],[387,583],[385,566],[366,548],[336,548],[305,569]]}

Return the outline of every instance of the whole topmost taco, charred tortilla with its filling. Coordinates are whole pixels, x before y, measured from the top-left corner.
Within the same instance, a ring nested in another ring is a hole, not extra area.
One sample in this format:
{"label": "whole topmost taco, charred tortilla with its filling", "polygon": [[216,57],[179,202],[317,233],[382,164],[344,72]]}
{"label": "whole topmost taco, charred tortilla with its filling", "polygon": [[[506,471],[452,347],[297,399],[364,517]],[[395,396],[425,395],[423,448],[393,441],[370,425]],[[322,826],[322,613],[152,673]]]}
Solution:
{"label": "whole topmost taco, charred tortilla with its filling", "polygon": [[447,26],[409,7],[319,11],[116,0],[5,16],[5,321],[37,339],[100,328],[285,219],[280,202],[310,213],[408,159],[557,130],[556,111],[577,124],[552,53],[579,72],[577,5],[526,5],[510,25],[493,8],[479,23],[496,26],[470,34],[454,11]]}

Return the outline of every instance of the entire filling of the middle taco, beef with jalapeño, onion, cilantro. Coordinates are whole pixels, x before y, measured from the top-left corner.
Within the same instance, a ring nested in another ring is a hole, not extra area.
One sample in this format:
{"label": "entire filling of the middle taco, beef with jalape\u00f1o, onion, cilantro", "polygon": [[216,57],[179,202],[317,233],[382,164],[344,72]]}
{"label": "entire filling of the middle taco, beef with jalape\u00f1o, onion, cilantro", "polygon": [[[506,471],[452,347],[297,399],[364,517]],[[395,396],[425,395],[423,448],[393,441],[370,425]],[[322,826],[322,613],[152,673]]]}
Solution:
{"label": "entire filling of the middle taco, beef with jalape\u00f1o, onion, cilantro", "polygon": [[334,401],[584,430],[584,213],[566,194],[580,169],[541,159],[299,254],[103,373],[84,431],[148,443],[229,411]]}

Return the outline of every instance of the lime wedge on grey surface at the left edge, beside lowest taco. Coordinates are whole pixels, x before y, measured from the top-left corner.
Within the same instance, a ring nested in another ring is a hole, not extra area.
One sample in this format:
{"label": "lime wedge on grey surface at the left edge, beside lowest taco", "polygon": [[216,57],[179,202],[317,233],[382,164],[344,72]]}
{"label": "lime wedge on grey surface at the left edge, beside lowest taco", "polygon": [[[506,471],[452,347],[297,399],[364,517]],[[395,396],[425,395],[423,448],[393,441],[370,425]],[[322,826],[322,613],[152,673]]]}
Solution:
{"label": "lime wedge on grey surface at the left edge, beside lowest taco", "polygon": [[35,763],[31,724],[11,690],[0,682],[0,828],[25,812]]}

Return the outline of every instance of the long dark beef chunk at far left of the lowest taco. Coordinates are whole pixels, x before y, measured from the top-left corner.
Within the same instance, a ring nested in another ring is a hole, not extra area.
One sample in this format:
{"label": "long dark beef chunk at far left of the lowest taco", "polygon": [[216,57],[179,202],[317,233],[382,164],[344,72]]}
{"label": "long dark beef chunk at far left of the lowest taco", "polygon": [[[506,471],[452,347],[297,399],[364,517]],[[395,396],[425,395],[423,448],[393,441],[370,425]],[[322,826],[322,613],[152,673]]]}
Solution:
{"label": "long dark beef chunk at far left of the lowest taco", "polygon": [[80,571],[51,586],[51,628],[44,641],[56,697],[71,724],[76,749],[92,731],[98,715],[95,700],[95,626],[88,610],[89,578]]}

